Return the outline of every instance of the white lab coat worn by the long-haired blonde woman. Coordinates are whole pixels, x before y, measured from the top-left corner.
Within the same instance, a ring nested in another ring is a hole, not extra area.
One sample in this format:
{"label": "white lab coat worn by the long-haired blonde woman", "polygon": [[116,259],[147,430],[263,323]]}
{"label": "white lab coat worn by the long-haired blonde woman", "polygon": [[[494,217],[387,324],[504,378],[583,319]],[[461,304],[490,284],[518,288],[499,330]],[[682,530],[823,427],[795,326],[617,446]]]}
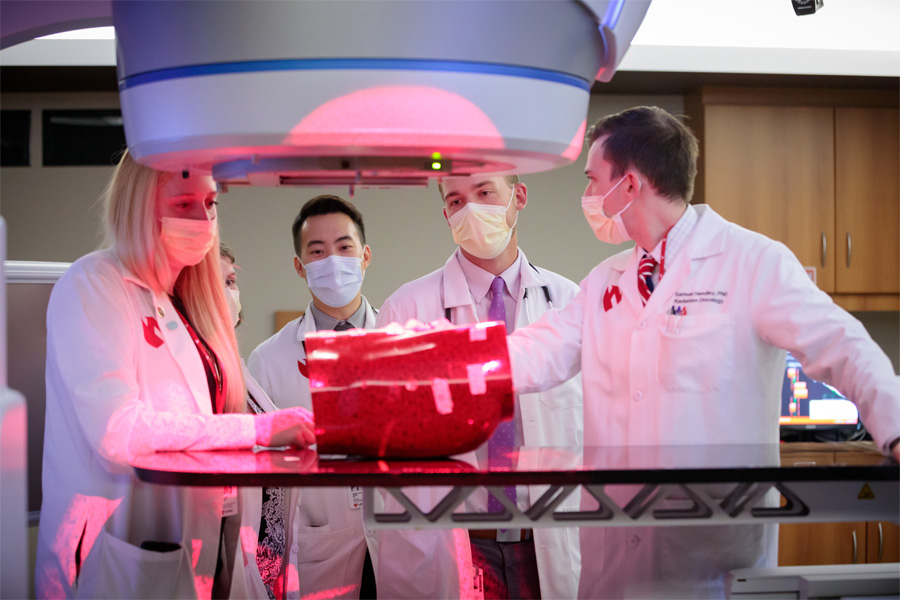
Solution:
{"label": "white lab coat worn by the long-haired blonde woman", "polygon": [[[251,415],[212,416],[199,353],[168,296],[110,250],[76,261],[50,296],[46,380],[38,597],[208,598],[222,488],[144,483],[129,459],[249,448],[256,431]],[[245,576],[235,566],[232,596],[252,593]]]}

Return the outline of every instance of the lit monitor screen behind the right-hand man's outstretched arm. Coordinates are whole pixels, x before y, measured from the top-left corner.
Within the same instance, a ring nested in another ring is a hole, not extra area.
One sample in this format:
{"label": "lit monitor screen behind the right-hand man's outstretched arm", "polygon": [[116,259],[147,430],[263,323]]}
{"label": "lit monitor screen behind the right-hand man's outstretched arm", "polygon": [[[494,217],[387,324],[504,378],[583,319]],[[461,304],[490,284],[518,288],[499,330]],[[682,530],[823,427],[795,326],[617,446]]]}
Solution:
{"label": "lit monitor screen behind the right-hand man's outstretched arm", "polygon": [[781,386],[780,423],[803,429],[855,428],[859,423],[859,412],[841,392],[807,376],[797,359],[788,352]]}

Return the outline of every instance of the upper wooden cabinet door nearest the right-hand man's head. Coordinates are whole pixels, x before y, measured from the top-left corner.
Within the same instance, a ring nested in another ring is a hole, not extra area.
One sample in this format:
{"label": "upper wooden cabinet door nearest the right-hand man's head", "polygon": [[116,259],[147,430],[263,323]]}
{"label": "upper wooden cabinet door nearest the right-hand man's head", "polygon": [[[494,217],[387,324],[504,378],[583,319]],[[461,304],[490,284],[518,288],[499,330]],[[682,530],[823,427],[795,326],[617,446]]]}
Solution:
{"label": "upper wooden cabinet door nearest the right-hand man's head", "polygon": [[834,291],[834,109],[706,106],[705,200],[784,242]]}

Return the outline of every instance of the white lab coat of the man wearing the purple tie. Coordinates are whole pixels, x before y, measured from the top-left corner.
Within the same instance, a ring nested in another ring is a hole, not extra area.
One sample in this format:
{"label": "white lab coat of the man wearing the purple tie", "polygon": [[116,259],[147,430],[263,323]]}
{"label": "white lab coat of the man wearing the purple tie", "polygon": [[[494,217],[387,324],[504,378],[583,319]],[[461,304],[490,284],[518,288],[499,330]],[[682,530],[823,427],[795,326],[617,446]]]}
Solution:
{"label": "white lab coat of the man wearing the purple tie", "polygon": [[[465,274],[459,265],[459,250],[437,271],[401,286],[382,305],[378,314],[379,326],[391,322],[405,323],[408,319],[430,322],[445,317],[450,309],[451,321],[456,325],[477,323],[478,317],[469,292]],[[556,273],[531,266],[524,253],[521,254],[521,285],[516,299],[516,328],[524,327],[538,320],[551,306],[544,295],[544,286],[550,293],[553,307],[565,306],[577,293],[578,286]],[[536,393],[519,394],[517,401],[522,416],[524,443],[526,446],[580,446],[582,444],[582,393],[577,370],[569,381]],[[533,465],[534,466],[534,465]],[[519,469],[529,465],[519,464]],[[536,501],[546,486],[530,486],[531,502]],[[577,510],[577,499],[572,498],[560,506],[560,510]],[[396,535],[394,532],[392,534]],[[432,532],[428,532],[431,534]],[[446,534],[435,533],[441,536]],[[424,543],[425,534],[413,533]],[[539,528],[534,530],[535,554],[541,595],[544,598],[572,598],[578,589],[581,559],[578,546],[577,528]],[[431,568],[451,568],[455,564],[457,550],[451,546],[453,540],[445,537],[444,553],[453,552],[454,560],[448,556],[435,559]],[[387,535],[382,556],[389,560]],[[441,566],[438,567],[437,564]],[[427,575],[425,575],[427,578]],[[449,579],[449,578],[447,578]],[[444,593],[443,597],[447,594]],[[440,597],[437,595],[436,597]]]}

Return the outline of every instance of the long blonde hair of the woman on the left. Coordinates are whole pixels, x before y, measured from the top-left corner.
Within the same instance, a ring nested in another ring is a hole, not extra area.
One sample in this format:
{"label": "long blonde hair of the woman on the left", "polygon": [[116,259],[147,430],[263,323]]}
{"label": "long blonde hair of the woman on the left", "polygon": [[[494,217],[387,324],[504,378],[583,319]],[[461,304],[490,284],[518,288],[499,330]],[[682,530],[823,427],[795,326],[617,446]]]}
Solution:
{"label": "long blonde hair of the woman on the left", "polygon": [[[168,273],[169,265],[156,218],[156,190],[173,176],[139,165],[126,151],[103,196],[106,243],[125,268],[157,293],[166,293],[160,274]],[[245,412],[246,388],[222,285],[218,229],[203,260],[181,270],[175,293],[219,361],[225,412]]]}

